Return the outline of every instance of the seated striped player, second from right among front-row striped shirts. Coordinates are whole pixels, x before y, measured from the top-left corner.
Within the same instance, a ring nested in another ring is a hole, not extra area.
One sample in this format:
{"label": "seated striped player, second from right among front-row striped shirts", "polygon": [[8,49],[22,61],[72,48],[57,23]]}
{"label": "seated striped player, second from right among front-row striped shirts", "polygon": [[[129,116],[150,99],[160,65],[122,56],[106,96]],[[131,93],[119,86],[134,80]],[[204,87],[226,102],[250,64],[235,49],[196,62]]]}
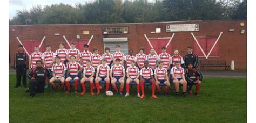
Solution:
{"label": "seated striped player, second from right among front-row striped shirts", "polygon": [[160,83],[164,83],[166,87],[164,88],[164,93],[168,94],[168,90],[170,88],[170,82],[167,74],[167,70],[163,67],[164,63],[162,61],[158,62],[158,68],[154,70],[154,78],[156,78],[156,86],[157,86],[157,92],[160,92]]}

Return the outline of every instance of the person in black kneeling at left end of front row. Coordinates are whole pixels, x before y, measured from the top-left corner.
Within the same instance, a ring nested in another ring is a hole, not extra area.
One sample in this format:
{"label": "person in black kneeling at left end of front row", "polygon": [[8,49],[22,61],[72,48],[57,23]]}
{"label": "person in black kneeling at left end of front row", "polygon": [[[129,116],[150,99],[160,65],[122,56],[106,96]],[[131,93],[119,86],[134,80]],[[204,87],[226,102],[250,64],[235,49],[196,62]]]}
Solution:
{"label": "person in black kneeling at left end of front row", "polygon": [[46,77],[50,78],[51,73],[48,69],[42,67],[42,61],[38,60],[36,62],[36,68],[29,71],[28,77],[29,82],[29,95],[31,97],[35,96],[35,93],[43,93]]}

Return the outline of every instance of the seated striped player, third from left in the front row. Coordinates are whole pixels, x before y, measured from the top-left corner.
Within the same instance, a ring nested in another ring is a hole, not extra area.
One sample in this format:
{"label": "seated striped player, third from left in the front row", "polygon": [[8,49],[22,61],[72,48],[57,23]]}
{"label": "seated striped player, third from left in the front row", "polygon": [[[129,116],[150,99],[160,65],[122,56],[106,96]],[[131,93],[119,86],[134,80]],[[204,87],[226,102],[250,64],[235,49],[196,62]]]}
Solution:
{"label": "seated striped player, third from left in the front row", "polygon": [[91,95],[93,95],[93,76],[95,73],[95,69],[91,66],[91,60],[87,60],[86,61],[86,67],[84,67],[84,74],[83,74],[83,78],[81,79],[81,86],[83,89],[83,92],[81,93],[81,95],[84,95],[86,90],[85,90],[85,81],[89,81],[90,82],[90,86],[91,86]]}

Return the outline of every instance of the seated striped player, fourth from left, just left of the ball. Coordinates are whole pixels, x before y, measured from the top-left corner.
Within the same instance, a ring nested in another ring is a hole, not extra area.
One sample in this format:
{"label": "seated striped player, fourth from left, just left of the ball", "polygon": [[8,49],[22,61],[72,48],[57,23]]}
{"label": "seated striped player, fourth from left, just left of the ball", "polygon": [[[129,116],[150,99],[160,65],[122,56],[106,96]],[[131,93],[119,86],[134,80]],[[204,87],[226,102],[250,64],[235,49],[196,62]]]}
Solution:
{"label": "seated striped player, fourth from left, just left of the ball", "polygon": [[[95,85],[96,85],[96,88],[97,88],[97,95],[100,94],[100,85],[99,85],[99,81],[102,81],[104,80],[106,82],[106,91],[109,90],[109,85],[110,85],[110,79],[109,79],[109,66],[106,64],[106,59],[103,58],[102,59],[102,64],[100,64],[98,67],[97,67],[97,73],[96,73],[96,79],[95,79]],[[92,88],[91,88],[92,90]],[[91,91],[92,93],[92,91]]]}

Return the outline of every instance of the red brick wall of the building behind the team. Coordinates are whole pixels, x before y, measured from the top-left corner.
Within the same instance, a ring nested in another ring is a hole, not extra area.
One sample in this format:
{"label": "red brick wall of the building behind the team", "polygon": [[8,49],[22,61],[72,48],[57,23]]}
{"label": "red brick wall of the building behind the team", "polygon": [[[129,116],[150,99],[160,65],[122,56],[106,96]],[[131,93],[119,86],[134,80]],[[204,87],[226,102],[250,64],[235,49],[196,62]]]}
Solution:
{"label": "red brick wall of the building behind the team", "polygon": [[[240,22],[245,26],[241,27]],[[81,24],[81,25],[29,25],[29,26],[9,26],[9,45],[11,64],[13,64],[13,55],[17,52],[19,44],[16,37],[20,40],[42,40],[46,36],[43,46],[51,45],[52,50],[58,49],[59,42],[65,42],[63,35],[69,39],[76,39],[79,34],[81,39],[90,39],[94,35],[90,47],[98,47],[99,53],[103,53],[103,38],[128,37],[128,48],[138,52],[142,46],[146,47],[147,41],[144,34],[149,38],[171,37],[172,33],[166,32],[166,24],[190,24],[199,23],[199,31],[193,32],[195,36],[218,36],[220,32],[223,35],[219,39],[219,57],[209,57],[208,60],[226,60],[230,65],[231,60],[235,61],[235,69],[246,69],[246,20],[217,20],[217,21],[181,21],[165,23],[134,23],[134,24]],[[129,26],[129,34],[103,35],[102,27]],[[151,34],[156,28],[161,28],[161,33]],[[229,32],[234,28],[233,32]],[[15,31],[12,31],[15,29]],[[245,34],[240,34],[240,30],[245,30]],[[89,35],[83,35],[83,31],[90,31]],[[60,33],[59,36],[54,35]],[[175,32],[172,40],[172,49],[178,48],[180,55],[186,54],[186,47],[193,46],[191,32]],[[200,60],[205,60],[200,57]],[[212,69],[212,68],[210,68]]]}

